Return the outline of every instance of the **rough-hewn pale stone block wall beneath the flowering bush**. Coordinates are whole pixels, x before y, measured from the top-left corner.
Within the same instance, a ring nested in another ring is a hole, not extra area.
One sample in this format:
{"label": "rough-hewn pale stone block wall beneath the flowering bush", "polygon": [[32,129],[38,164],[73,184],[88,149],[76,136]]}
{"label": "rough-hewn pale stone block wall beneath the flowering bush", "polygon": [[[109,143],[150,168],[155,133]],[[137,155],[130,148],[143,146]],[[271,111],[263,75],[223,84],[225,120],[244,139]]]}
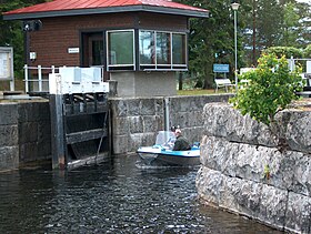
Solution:
{"label": "rough-hewn pale stone block wall beneath the flowering bush", "polygon": [[278,113],[277,135],[227,103],[207,104],[203,121],[200,200],[280,230],[311,233],[310,108]]}

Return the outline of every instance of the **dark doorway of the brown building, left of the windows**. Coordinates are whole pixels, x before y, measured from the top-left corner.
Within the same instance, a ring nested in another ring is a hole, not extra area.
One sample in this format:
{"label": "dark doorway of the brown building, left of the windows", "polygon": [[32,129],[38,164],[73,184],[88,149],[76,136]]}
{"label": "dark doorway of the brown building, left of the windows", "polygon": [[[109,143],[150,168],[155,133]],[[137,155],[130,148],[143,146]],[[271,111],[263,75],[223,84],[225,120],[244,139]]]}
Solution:
{"label": "dark doorway of the brown building, left of the windows", "polygon": [[104,67],[103,33],[82,33],[82,67]]}

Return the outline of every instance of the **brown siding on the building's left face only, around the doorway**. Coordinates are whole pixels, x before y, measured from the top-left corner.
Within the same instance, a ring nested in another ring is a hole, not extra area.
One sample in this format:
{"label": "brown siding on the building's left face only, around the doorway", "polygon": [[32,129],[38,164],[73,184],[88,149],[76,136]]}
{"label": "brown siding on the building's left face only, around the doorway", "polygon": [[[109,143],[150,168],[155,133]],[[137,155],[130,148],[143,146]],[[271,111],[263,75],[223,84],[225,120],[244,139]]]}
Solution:
{"label": "brown siding on the building's left face only, around the doorway", "polygon": [[42,19],[42,29],[30,32],[30,52],[37,52],[31,65],[80,65],[80,53],[68,53],[68,48],[80,48],[80,31],[102,31],[108,28],[133,28],[134,17],[127,14],[94,14]]}

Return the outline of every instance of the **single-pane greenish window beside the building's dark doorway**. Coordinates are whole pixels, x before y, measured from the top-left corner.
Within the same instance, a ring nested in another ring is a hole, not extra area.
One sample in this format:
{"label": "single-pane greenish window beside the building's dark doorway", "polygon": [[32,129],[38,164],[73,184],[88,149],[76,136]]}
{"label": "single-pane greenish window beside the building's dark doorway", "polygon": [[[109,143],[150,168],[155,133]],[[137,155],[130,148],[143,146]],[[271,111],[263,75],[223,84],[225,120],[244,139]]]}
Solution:
{"label": "single-pane greenish window beside the building's dark doorway", "polygon": [[133,30],[108,31],[108,71],[134,70]]}

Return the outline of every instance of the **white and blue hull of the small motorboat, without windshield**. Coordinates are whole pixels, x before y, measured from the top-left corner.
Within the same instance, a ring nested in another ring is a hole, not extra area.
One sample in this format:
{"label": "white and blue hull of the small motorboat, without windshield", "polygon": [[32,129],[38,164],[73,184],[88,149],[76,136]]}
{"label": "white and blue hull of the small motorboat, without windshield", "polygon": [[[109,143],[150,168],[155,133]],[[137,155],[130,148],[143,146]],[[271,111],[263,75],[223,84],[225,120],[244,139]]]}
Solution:
{"label": "white and blue hull of the small motorboat, without windshield", "polygon": [[151,166],[194,166],[200,164],[200,149],[171,151],[161,147],[140,147],[137,153],[146,165]]}

